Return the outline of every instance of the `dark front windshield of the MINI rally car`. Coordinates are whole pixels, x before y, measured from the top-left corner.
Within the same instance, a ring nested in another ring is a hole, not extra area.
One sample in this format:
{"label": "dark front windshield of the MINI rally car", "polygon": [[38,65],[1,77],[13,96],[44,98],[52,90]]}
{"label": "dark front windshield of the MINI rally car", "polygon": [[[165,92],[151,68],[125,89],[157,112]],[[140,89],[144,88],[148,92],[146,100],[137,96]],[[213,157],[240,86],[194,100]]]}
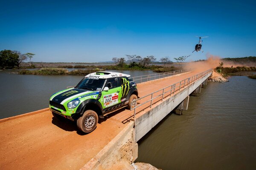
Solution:
{"label": "dark front windshield of the MINI rally car", "polygon": [[105,79],[103,78],[84,78],[79,82],[76,88],[101,91],[104,82]]}

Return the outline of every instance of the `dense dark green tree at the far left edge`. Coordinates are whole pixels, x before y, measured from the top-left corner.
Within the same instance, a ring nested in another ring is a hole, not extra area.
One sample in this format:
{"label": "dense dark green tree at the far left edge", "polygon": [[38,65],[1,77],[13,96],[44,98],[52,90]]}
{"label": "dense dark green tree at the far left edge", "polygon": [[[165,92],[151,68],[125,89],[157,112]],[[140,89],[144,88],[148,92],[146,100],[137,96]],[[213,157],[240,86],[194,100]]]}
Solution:
{"label": "dense dark green tree at the far left edge", "polygon": [[13,68],[18,66],[19,55],[12,50],[0,51],[0,68]]}

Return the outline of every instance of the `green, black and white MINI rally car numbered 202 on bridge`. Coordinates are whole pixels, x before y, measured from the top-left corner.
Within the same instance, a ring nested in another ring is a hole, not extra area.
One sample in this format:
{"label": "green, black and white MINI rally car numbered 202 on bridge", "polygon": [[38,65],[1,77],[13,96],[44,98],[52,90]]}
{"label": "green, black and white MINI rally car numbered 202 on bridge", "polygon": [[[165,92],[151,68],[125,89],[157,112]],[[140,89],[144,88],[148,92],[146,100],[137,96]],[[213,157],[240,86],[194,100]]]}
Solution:
{"label": "green, black and white MINI rally car numbered 202 on bridge", "polygon": [[50,97],[49,108],[56,118],[77,121],[79,130],[90,133],[98,117],[116,109],[134,107],[138,90],[130,75],[119,72],[94,72],[86,75],[73,88],[56,92]]}

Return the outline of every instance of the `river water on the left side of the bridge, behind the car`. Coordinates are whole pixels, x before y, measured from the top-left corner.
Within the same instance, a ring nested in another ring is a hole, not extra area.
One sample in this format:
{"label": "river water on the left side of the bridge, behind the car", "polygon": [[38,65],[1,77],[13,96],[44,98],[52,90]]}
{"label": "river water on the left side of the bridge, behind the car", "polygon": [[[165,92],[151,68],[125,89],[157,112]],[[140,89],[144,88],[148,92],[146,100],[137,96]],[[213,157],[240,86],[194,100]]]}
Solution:
{"label": "river water on the left side of the bridge, behind the car", "polygon": [[[49,107],[50,96],[75,86],[84,76],[78,75],[18,75],[18,70],[0,71],[0,118],[7,118]],[[108,70],[106,70],[108,71]],[[112,70],[113,71],[113,70]],[[154,74],[151,70],[122,71],[132,77]]]}

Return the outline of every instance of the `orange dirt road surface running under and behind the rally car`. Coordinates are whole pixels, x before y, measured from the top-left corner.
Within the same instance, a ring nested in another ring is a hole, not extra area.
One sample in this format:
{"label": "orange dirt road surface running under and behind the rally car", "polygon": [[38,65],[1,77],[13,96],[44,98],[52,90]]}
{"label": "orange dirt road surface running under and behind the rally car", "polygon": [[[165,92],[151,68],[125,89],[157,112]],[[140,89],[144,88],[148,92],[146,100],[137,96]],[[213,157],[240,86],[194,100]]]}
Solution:
{"label": "orange dirt road surface running under and behind the rally car", "polygon": [[[198,72],[138,84],[139,96],[161,89]],[[80,169],[131,120],[121,109],[108,115],[92,133],[79,133],[76,123],[60,122],[50,111],[0,123],[0,169]],[[101,121],[102,120],[102,121]]]}

